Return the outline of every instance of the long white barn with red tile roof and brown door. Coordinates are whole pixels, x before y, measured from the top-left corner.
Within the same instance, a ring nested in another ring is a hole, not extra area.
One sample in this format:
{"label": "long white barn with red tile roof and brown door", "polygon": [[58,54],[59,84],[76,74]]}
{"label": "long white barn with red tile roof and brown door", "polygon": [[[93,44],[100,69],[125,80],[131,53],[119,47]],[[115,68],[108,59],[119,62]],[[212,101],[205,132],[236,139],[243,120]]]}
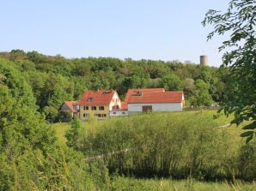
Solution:
{"label": "long white barn with red tile roof and brown door", "polygon": [[182,91],[168,91],[163,88],[129,89],[125,96],[129,115],[148,110],[182,111],[185,100]]}

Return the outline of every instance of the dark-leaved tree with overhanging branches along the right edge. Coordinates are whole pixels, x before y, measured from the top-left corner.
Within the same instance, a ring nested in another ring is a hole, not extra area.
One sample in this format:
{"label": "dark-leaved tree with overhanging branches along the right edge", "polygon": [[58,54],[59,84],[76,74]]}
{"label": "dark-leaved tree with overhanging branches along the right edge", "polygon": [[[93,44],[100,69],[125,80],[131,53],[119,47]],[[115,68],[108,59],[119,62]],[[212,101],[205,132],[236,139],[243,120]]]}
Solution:
{"label": "dark-leaved tree with overhanging branches along the right edge", "polygon": [[256,4],[255,0],[232,0],[226,13],[210,9],[202,24],[210,24],[214,30],[207,39],[214,35],[227,34],[229,39],[222,42],[219,51],[226,51],[222,56],[222,65],[230,66],[229,83],[226,98],[222,100],[224,113],[234,113],[232,123],[239,125],[251,121],[244,127],[247,142],[256,135]]}

